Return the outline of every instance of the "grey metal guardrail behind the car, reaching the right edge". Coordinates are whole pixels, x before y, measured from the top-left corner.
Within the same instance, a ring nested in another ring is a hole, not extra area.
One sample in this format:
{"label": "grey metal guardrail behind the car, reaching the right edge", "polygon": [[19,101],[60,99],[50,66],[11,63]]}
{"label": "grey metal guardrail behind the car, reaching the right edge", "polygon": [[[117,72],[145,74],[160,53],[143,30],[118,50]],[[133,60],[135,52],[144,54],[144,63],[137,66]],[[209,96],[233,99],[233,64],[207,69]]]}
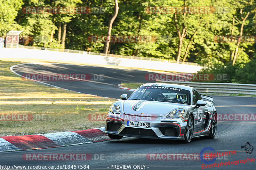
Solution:
{"label": "grey metal guardrail behind the car, reaching the right edge", "polygon": [[159,83],[180,84],[196,88],[200,93],[211,94],[245,94],[256,95],[256,84],[239,84],[239,83],[205,83],[205,82],[189,82],[189,81],[163,81],[157,80]]}

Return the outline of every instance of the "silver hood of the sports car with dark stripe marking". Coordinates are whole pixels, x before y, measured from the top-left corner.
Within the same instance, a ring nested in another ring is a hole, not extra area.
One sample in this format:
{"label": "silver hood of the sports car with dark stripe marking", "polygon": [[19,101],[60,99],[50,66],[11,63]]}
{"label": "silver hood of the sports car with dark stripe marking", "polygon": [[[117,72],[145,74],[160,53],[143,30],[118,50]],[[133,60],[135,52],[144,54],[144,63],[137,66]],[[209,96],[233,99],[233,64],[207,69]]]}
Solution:
{"label": "silver hood of the sports car with dark stripe marking", "polygon": [[163,115],[168,114],[174,109],[188,108],[185,104],[158,102],[148,100],[125,100],[124,101],[124,113],[132,115],[141,115],[141,113],[151,115]]}

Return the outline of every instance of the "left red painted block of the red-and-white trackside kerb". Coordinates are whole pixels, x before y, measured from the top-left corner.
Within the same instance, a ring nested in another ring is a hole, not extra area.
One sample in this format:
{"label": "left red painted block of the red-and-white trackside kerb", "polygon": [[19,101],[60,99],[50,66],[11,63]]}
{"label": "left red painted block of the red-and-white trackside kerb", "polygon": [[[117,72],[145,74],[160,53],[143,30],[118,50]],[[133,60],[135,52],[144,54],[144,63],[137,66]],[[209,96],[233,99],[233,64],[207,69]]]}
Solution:
{"label": "left red painted block of the red-and-white trackside kerb", "polygon": [[1,138],[5,139],[21,150],[42,149],[60,146],[53,142],[51,139],[42,135],[3,136]]}

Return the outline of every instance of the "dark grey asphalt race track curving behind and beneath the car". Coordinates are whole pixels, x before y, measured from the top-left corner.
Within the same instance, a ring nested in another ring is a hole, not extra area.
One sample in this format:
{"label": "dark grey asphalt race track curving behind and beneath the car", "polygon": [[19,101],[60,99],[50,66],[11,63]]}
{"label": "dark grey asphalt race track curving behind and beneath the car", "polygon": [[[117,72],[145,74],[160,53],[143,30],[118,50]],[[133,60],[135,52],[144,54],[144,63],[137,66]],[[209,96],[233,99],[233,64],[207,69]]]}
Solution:
{"label": "dark grey asphalt race track curving behind and beneath the car", "polygon": [[[140,70],[124,70],[117,68],[104,68],[80,65],[63,64],[25,64],[13,67],[18,74],[104,74],[104,80],[96,81],[45,81],[45,83],[78,92],[104,97],[118,98],[121,94],[131,95],[132,92],[116,89],[115,84],[121,82],[148,82],[145,74]],[[253,113],[256,110],[256,97],[242,96],[213,96],[218,113]],[[205,147],[212,147],[218,152],[236,151],[225,159],[215,160],[221,163],[247,158],[256,158],[256,149],[251,154],[246,153],[241,146],[249,142],[256,147],[256,121],[219,121],[217,134],[214,139],[195,138],[189,144],[181,141],[156,140],[143,138],[123,138],[122,140],[109,140],[84,145],[73,145],[40,150],[27,150],[0,153],[1,164],[9,165],[89,165],[90,169],[111,169],[111,165],[145,165],[148,170],[160,169],[202,169],[201,160],[148,160],[148,153],[200,153]],[[208,150],[208,152],[210,152]],[[91,160],[87,161],[25,161],[25,153],[90,153]],[[104,158],[97,159],[97,155],[104,154]],[[215,163],[214,162],[214,163]],[[213,164],[213,163],[212,163]],[[205,164],[206,165],[206,164]],[[256,163],[246,162],[237,165],[220,166],[220,169],[255,169]],[[143,168],[144,166],[142,166]],[[253,168],[254,167],[254,168]],[[217,167],[208,167],[216,169]],[[112,166],[113,169],[113,166]],[[121,168],[118,168],[121,169]],[[124,168],[122,168],[124,169]]]}

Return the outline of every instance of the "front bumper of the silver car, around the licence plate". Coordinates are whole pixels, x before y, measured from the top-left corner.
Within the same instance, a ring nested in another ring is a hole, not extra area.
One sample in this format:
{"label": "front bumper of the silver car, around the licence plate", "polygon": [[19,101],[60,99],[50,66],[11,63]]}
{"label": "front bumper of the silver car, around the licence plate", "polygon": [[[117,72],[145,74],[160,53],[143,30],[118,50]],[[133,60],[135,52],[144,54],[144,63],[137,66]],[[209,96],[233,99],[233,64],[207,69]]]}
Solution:
{"label": "front bumper of the silver car, around the licence plate", "polygon": [[129,116],[130,120],[138,122],[150,122],[151,127],[134,127],[128,126],[128,119],[120,118],[117,114],[108,114],[106,119],[105,133],[119,135],[119,136],[129,136],[129,137],[139,137],[139,138],[161,138],[161,139],[171,139],[171,140],[184,140],[185,127],[187,121],[185,118],[166,118],[165,116],[158,117],[156,120],[153,118],[146,117],[145,120],[140,118],[138,120],[137,116]]}

